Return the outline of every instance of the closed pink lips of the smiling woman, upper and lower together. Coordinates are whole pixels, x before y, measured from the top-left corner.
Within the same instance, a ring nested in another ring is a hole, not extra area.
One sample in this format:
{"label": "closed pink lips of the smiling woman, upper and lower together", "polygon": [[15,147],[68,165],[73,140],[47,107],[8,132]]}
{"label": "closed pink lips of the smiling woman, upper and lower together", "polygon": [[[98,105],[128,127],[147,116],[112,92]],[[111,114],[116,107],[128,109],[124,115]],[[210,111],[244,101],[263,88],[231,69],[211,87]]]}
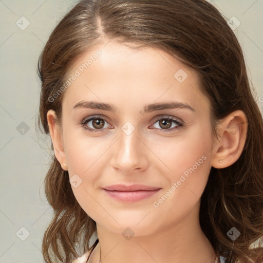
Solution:
{"label": "closed pink lips of the smiling woman, upper and lower together", "polygon": [[151,197],[159,192],[158,187],[143,185],[143,184],[115,184],[103,188],[110,197],[123,202],[136,202],[142,199]]}

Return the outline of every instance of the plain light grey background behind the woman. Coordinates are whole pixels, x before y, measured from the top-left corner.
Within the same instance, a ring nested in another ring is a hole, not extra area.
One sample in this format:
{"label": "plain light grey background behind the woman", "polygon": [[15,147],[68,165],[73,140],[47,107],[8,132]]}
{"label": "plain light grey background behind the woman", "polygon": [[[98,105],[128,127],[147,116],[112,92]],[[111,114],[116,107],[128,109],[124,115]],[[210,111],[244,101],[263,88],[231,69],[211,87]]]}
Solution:
{"label": "plain light grey background behind the woman", "polygon": [[[0,0],[0,262],[44,262],[42,237],[52,209],[44,195],[43,181],[51,142],[35,132],[40,97],[36,65],[52,29],[76,2]],[[263,1],[209,2],[226,19],[235,16],[241,23],[234,32],[263,112]],[[20,28],[26,25],[22,16],[30,22],[24,30]],[[23,130],[27,126],[29,130]]]}

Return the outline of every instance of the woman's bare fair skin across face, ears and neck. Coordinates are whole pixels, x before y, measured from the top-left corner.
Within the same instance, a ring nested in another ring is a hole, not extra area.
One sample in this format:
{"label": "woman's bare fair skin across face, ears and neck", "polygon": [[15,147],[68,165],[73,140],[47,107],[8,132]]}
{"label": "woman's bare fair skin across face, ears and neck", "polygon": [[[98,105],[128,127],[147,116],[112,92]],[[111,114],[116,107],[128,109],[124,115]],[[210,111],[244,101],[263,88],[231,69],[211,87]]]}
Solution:
{"label": "woman's bare fair skin across face, ears and neck", "polygon": [[[103,263],[214,263],[215,251],[199,224],[200,197],[211,167],[230,166],[241,155],[246,115],[237,110],[224,118],[215,139],[211,105],[201,92],[197,72],[150,47],[134,50],[115,41],[93,46],[72,65],[69,76],[97,50],[101,55],[64,91],[62,126],[55,124],[53,110],[47,113],[55,156],[69,178],[74,174],[81,178],[78,187],[72,186],[73,193],[97,223],[99,245],[89,262],[99,260],[101,249]],[[179,69],[188,76],[182,83],[174,77]],[[109,103],[117,111],[73,109],[83,100]],[[187,103],[195,111],[176,108],[142,113],[146,104],[171,101]],[[92,120],[86,124],[99,132],[89,132],[80,124],[94,115],[106,118],[97,126],[92,126]],[[151,123],[157,116],[171,116],[184,126],[172,130],[177,124],[168,122],[171,132],[165,132],[161,121]],[[135,128],[130,135],[122,130],[127,121]],[[202,156],[206,157],[202,164],[154,207],[154,201]],[[102,191],[119,183],[161,190],[144,200],[124,203]],[[134,232],[129,240],[122,235],[127,227]]]}

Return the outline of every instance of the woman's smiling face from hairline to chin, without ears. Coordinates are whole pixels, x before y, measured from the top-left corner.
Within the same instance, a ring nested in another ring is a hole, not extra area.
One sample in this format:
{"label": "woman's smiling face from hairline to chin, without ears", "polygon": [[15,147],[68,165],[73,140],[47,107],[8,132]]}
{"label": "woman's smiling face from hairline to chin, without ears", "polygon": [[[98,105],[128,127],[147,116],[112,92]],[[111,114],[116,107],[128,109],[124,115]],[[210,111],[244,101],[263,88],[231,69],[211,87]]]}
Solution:
{"label": "woman's smiling face from hairline to chin, without ears", "polygon": [[[197,73],[162,50],[110,41],[82,55],[68,77],[65,160],[73,193],[97,226],[146,235],[197,211],[213,143]],[[108,187],[117,184],[144,186]]]}

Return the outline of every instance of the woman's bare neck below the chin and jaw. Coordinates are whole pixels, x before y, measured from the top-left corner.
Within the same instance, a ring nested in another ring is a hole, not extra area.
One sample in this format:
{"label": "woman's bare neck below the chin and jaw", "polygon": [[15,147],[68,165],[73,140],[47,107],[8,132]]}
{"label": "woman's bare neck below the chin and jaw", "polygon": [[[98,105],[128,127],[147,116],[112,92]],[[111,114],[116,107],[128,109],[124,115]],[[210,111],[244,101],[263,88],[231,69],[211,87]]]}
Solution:
{"label": "woman's bare neck below the chin and jaw", "polygon": [[[198,210],[190,213],[199,216]],[[199,220],[193,220],[193,214],[148,235],[136,236],[135,233],[129,240],[98,224],[97,233],[99,244],[89,262],[99,262],[100,251],[102,263],[214,263],[216,259],[211,243],[203,234]]]}

